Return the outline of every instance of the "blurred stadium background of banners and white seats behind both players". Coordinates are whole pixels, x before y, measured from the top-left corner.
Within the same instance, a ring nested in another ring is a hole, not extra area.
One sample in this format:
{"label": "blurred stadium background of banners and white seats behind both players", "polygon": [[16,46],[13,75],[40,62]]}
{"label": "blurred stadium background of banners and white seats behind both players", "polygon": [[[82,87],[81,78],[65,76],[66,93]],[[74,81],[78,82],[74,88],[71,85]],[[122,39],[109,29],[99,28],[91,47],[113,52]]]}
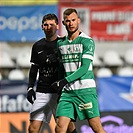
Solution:
{"label": "blurred stadium background of banners and white seats behind both players", "polygon": [[[133,0],[0,0],[0,133],[27,133],[26,100],[33,43],[44,37],[42,17],[76,8],[80,29],[96,45],[94,74],[101,121],[107,133],[133,133]],[[93,133],[86,121],[79,133]],[[51,133],[47,125],[41,133]]]}

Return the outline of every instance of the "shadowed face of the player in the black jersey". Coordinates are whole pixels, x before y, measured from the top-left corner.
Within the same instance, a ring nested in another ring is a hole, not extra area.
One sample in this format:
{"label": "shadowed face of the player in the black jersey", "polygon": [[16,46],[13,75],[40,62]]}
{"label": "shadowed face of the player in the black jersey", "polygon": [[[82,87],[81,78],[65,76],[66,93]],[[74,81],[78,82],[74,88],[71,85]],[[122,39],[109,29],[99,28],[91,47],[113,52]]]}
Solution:
{"label": "shadowed face of the player in the black jersey", "polygon": [[59,26],[56,24],[55,20],[46,20],[42,24],[42,30],[44,30],[44,33],[46,34],[47,37],[54,36],[58,28]]}

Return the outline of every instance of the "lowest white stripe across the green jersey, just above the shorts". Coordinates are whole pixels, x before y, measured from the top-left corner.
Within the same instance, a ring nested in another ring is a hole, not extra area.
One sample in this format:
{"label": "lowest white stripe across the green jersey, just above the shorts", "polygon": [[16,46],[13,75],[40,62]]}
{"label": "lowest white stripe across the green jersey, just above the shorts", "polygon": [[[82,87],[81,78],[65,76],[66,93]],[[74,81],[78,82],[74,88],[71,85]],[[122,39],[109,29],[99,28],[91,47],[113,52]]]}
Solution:
{"label": "lowest white stripe across the green jersey, just above the shorts", "polygon": [[66,90],[80,90],[85,88],[92,88],[96,87],[96,83],[94,79],[83,79],[77,80],[73,83],[66,85],[63,89]]}

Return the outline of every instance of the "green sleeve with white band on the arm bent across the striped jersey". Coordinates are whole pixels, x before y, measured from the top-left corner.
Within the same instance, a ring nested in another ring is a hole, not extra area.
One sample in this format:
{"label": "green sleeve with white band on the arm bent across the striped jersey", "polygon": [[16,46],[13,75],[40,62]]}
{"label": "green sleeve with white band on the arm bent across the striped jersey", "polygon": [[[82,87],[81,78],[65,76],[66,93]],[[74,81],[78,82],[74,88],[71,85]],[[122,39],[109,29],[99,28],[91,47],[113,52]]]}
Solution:
{"label": "green sleeve with white band on the arm bent across the striped jersey", "polygon": [[88,72],[88,70],[92,70],[92,61],[95,50],[95,44],[92,39],[84,39],[83,40],[83,54],[81,59],[81,66],[73,72],[71,75],[66,77],[68,82],[75,81],[82,77],[84,74]]}

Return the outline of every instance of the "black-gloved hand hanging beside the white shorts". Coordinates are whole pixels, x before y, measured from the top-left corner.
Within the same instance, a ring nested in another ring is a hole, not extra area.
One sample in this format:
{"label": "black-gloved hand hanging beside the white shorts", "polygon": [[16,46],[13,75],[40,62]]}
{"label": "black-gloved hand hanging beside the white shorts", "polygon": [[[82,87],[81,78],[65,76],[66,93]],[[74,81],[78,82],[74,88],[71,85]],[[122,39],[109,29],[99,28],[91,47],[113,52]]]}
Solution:
{"label": "black-gloved hand hanging beside the white shorts", "polygon": [[28,100],[31,104],[33,104],[34,100],[36,100],[36,94],[35,94],[35,91],[33,90],[33,88],[29,88],[29,89],[28,89],[27,100]]}

